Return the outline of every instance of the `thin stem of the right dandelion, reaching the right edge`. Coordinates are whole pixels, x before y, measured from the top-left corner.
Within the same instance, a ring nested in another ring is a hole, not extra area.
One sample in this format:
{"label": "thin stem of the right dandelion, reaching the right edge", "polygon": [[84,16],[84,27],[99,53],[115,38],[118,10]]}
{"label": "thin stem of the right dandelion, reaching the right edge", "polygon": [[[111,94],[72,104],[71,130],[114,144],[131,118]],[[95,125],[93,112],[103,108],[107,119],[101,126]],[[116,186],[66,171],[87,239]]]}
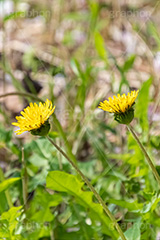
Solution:
{"label": "thin stem of the right dandelion, reaching the right edge", "polygon": [[158,174],[158,172],[157,172],[157,170],[156,170],[156,168],[155,168],[155,166],[154,166],[151,158],[149,157],[149,155],[148,155],[148,153],[146,152],[146,150],[145,150],[144,146],[142,145],[142,143],[139,141],[139,138],[138,138],[138,136],[136,135],[136,133],[135,133],[135,131],[133,130],[133,128],[131,127],[131,125],[127,125],[127,127],[128,127],[128,130],[132,133],[132,135],[133,135],[134,139],[136,140],[136,142],[138,143],[140,149],[141,149],[142,152],[144,153],[144,155],[145,155],[145,157],[146,157],[146,159],[147,159],[147,162],[148,162],[150,168],[152,169],[152,173],[153,173],[153,175],[155,176],[155,178],[156,178],[156,180],[157,180],[157,182],[158,182],[158,184],[159,184],[159,187],[160,187],[160,176],[159,176],[159,174]]}

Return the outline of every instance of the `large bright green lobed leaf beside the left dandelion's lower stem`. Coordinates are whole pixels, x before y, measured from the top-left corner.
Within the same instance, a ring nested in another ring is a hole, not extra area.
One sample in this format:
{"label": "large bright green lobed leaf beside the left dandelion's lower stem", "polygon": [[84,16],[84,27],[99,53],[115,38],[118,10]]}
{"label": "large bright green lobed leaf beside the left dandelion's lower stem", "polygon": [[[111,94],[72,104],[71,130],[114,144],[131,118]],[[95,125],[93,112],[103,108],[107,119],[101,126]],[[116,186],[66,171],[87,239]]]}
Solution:
{"label": "large bright green lobed leaf beside the left dandelion's lower stem", "polygon": [[83,185],[84,183],[80,182],[76,176],[60,171],[49,172],[46,180],[47,188],[59,192],[66,192],[74,196],[80,205],[90,209],[91,214],[96,215],[96,217],[101,220],[105,225],[105,231],[108,235],[117,237],[117,232],[113,228],[109,228],[109,226],[112,226],[112,222],[104,214],[102,206],[93,202],[92,192],[84,192],[82,190]]}

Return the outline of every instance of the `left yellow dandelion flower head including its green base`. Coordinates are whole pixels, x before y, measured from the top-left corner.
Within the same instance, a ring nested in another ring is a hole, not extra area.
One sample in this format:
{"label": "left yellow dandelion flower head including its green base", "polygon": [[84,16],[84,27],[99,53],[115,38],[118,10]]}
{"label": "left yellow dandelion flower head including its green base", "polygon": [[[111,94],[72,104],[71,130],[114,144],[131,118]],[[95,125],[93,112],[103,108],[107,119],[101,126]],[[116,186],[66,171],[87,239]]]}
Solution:
{"label": "left yellow dandelion flower head including its green base", "polygon": [[15,131],[17,135],[22,134],[25,131],[31,132],[33,135],[44,136],[50,129],[48,118],[54,112],[50,100],[46,100],[45,103],[30,103],[23,111],[22,116],[17,116],[17,122],[13,122],[12,125],[19,127],[20,129]]}

